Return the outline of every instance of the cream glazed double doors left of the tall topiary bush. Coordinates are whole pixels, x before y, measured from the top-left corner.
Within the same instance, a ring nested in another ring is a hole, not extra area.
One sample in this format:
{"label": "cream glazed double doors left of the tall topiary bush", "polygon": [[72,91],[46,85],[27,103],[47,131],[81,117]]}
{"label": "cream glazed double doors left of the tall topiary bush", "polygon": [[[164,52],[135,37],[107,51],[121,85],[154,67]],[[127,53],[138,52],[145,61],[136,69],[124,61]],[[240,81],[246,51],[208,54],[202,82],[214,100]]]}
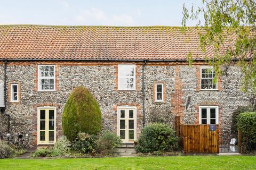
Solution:
{"label": "cream glazed double doors left of the tall topiary bush", "polygon": [[38,133],[39,145],[49,145],[55,143],[55,109],[39,109]]}

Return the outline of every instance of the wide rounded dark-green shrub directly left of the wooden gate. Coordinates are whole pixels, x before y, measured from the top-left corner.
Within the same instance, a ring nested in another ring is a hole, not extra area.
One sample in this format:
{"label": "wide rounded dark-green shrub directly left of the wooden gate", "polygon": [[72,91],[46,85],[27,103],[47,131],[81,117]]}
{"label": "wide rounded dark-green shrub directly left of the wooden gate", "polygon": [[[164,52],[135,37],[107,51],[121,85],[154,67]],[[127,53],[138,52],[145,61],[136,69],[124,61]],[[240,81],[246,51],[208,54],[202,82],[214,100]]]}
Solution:
{"label": "wide rounded dark-green shrub directly left of the wooden gate", "polygon": [[142,129],[135,150],[142,153],[174,151],[179,148],[178,140],[179,137],[175,135],[170,126],[166,124],[150,124]]}

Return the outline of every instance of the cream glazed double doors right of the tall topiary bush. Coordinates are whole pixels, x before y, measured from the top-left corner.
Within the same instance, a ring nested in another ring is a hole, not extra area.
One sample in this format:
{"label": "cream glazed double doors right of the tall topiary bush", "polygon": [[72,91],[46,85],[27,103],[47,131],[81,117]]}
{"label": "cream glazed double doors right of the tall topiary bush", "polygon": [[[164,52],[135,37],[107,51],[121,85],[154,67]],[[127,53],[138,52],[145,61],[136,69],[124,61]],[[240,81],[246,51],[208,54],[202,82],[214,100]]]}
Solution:
{"label": "cream glazed double doors right of the tall topiary bush", "polygon": [[123,142],[135,139],[135,109],[119,108],[119,135]]}

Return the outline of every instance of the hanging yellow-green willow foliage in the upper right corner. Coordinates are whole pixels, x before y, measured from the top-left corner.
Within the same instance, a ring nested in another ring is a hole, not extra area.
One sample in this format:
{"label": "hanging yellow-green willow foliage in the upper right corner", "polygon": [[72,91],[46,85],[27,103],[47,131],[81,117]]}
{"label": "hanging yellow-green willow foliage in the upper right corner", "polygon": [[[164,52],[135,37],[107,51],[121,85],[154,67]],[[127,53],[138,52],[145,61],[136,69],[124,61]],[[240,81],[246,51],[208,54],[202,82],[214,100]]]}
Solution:
{"label": "hanging yellow-green willow foliage in the upper right corner", "polygon": [[[221,65],[231,63],[242,67],[242,85],[245,92],[252,89],[256,94],[256,1],[255,0],[210,0],[202,1],[196,10],[183,6],[182,30],[187,31],[186,21],[195,20],[200,28],[199,40],[205,60],[214,67],[215,79],[222,75]],[[207,56],[207,48],[214,49]],[[193,54],[193,53],[192,53]],[[188,63],[193,64],[189,52]]]}

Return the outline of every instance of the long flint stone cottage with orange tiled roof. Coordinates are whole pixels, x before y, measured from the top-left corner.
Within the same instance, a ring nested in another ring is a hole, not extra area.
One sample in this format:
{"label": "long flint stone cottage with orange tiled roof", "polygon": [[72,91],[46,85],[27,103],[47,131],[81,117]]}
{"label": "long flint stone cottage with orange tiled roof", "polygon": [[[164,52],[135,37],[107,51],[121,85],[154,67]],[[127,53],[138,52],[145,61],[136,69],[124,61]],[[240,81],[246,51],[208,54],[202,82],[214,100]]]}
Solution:
{"label": "long flint stone cottage with orange tiled roof", "polygon": [[240,91],[241,68],[230,65],[214,83],[198,44],[196,28],[185,35],[177,27],[0,25],[0,132],[52,145],[67,98],[82,85],[99,103],[103,128],[126,143],[175,115],[185,124],[219,124],[229,135],[232,113],[250,102]]}

